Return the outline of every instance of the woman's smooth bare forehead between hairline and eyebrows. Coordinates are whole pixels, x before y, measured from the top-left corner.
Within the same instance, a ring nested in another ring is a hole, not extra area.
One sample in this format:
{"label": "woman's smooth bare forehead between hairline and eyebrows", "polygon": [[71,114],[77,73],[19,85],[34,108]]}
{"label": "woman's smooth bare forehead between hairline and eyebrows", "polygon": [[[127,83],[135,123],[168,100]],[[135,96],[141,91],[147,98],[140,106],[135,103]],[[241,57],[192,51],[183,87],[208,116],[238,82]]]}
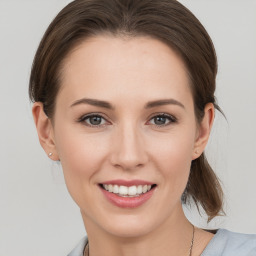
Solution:
{"label": "woman's smooth bare forehead between hairline and eyebrows", "polygon": [[70,100],[88,94],[107,99],[120,94],[149,100],[170,94],[191,97],[182,59],[168,45],[150,37],[89,38],[70,52],[61,77],[61,91]]}

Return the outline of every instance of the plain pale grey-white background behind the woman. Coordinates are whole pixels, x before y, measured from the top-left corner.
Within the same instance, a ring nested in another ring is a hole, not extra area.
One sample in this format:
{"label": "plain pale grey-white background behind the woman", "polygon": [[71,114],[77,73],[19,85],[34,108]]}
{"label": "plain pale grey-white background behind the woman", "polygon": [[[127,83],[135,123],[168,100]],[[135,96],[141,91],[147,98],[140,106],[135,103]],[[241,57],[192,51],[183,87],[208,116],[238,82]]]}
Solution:
{"label": "plain pale grey-white background behind the woman", "polygon": [[[61,169],[39,145],[27,93],[39,41],[68,2],[0,0],[0,256],[67,255],[85,234]],[[209,227],[256,233],[256,1],[181,2],[215,43],[217,97],[228,119],[217,115],[207,148],[224,184],[227,217]]]}

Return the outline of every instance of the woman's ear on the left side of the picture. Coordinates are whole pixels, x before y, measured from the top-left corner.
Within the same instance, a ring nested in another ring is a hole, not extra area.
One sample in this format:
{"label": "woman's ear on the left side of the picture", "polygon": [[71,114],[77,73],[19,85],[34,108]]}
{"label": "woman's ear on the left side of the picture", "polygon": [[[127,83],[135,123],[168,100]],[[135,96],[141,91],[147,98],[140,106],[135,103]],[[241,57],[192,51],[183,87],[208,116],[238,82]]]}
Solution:
{"label": "woman's ear on the left side of the picture", "polygon": [[42,102],[35,102],[32,107],[32,114],[37,129],[39,142],[52,160],[58,161],[59,156],[54,142],[54,132],[51,120],[45,114]]}

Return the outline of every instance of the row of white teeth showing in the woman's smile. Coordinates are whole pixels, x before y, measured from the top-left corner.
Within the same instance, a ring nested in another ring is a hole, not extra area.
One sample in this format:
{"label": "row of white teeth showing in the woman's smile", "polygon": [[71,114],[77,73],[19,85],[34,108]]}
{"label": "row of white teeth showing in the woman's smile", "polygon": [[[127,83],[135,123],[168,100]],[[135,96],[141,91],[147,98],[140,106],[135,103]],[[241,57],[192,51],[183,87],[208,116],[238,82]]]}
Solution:
{"label": "row of white teeth showing in the woman's smile", "polygon": [[118,186],[118,185],[112,185],[112,184],[103,184],[103,188],[111,193],[118,194],[122,197],[134,197],[139,196],[142,193],[148,192],[152,186],[151,185],[139,185],[139,186]]}

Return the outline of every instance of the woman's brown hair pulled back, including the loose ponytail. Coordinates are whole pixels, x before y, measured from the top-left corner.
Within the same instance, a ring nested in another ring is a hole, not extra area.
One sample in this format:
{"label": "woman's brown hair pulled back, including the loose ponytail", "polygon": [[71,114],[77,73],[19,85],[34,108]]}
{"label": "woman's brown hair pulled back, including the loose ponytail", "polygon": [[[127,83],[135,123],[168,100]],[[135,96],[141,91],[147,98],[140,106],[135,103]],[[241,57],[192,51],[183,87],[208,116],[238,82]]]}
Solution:
{"label": "woman's brown hair pulled back, including the loose ponytail", "polygon": [[[68,4],[49,25],[36,52],[29,84],[32,101],[43,103],[54,116],[60,89],[61,66],[81,41],[99,34],[150,36],[174,49],[186,64],[198,122],[204,107],[213,103],[217,58],[213,43],[199,20],[176,0],[76,0]],[[220,110],[221,111],[221,110]],[[182,200],[193,199],[208,220],[223,212],[220,182],[204,153],[191,164]]]}

